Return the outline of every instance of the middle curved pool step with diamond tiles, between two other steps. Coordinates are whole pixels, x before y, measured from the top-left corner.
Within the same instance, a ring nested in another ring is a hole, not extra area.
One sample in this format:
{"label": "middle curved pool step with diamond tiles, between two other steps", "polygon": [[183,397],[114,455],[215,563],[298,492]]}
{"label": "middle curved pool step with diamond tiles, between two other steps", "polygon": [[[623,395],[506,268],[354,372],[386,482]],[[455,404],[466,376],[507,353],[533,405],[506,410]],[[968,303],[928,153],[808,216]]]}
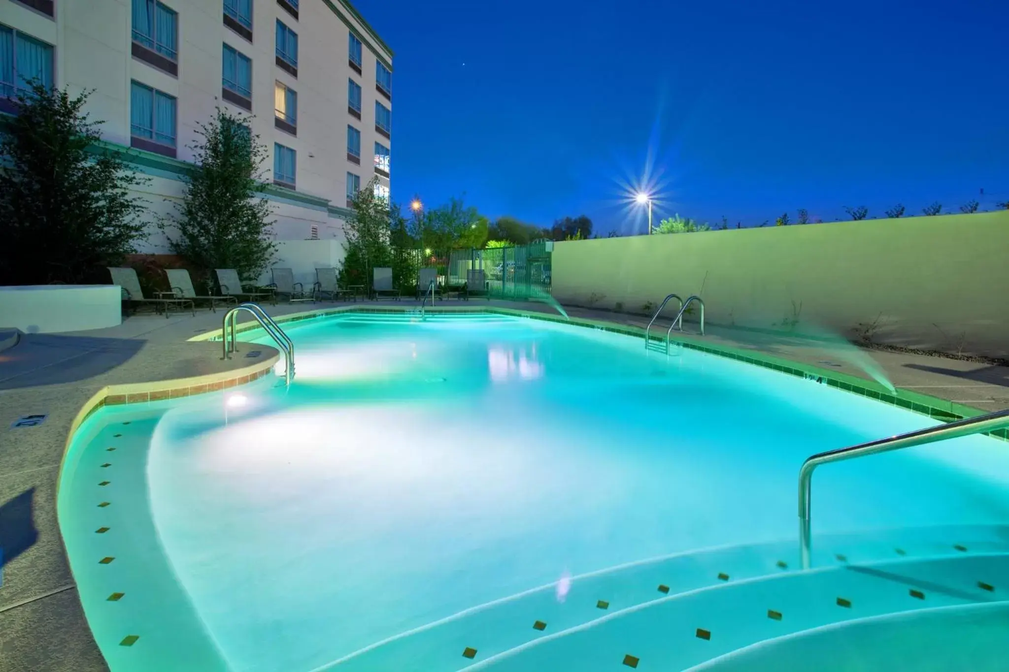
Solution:
{"label": "middle curved pool step with diamond tiles, between two other steps", "polygon": [[684,670],[831,624],[1000,599],[1009,599],[1004,553],[842,565],[709,586],[620,610],[492,658],[474,656],[474,664],[462,669]]}

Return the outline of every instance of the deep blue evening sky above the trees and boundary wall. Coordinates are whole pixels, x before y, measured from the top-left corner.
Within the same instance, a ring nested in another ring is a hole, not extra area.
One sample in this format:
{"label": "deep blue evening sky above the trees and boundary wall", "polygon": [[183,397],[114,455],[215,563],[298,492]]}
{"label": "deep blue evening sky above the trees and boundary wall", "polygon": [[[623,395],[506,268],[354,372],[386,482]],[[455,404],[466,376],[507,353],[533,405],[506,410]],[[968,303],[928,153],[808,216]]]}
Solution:
{"label": "deep blue evening sky above the trees and boundary wall", "polygon": [[[393,197],[754,226],[1009,200],[1006,0],[355,0],[396,51]],[[980,189],[985,189],[985,194]]]}

